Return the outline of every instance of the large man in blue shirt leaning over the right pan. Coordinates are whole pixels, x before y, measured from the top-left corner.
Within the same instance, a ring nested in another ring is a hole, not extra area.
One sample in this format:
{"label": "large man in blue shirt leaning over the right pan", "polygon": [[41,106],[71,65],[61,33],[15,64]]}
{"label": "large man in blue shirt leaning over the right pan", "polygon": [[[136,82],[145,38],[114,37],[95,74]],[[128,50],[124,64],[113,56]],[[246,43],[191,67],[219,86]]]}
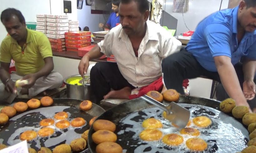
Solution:
{"label": "large man in blue shirt leaning over the right pan", "polygon": [[[242,0],[233,9],[203,19],[187,47],[162,61],[167,89],[173,88],[183,94],[184,79],[206,76],[221,82],[237,106],[249,106],[247,100],[255,97],[255,30],[254,0]],[[255,107],[252,109],[256,112]]]}

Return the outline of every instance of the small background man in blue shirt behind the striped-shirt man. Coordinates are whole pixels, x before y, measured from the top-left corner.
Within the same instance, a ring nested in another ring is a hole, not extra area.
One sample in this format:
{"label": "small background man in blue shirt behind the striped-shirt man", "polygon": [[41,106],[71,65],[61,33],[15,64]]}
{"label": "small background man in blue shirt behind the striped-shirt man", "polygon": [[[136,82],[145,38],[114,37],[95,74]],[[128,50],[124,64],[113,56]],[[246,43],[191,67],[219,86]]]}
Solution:
{"label": "small background man in blue shirt behind the striped-shirt man", "polygon": [[120,23],[120,18],[119,18],[119,14],[118,14],[119,4],[120,4],[120,0],[112,0],[112,10],[114,12],[112,12],[110,14],[110,17],[109,17],[106,25],[104,25],[103,23],[99,24],[100,28],[112,29],[113,27],[116,26],[117,23]]}

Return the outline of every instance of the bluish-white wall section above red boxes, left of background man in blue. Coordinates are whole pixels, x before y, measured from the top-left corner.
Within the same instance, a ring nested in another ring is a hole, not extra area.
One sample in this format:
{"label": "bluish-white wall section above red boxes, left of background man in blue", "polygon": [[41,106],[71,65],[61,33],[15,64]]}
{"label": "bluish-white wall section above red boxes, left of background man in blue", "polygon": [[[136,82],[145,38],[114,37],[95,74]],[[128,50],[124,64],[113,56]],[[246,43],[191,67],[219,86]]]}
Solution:
{"label": "bluish-white wall section above red boxes, left of background man in blue", "polygon": [[77,18],[79,27],[83,30],[85,26],[89,27],[91,32],[101,31],[99,23],[104,23],[105,20],[102,14],[91,14],[91,7],[83,2],[82,9],[77,9]]}

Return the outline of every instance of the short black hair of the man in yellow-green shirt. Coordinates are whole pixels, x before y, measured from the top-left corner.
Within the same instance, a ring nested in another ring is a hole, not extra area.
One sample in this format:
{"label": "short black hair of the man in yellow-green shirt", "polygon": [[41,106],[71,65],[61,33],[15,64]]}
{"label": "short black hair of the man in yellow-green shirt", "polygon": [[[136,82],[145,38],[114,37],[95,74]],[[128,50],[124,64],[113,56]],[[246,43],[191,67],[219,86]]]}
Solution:
{"label": "short black hair of the man in yellow-green shirt", "polygon": [[25,23],[25,18],[23,17],[22,13],[15,8],[7,8],[3,10],[3,12],[1,13],[1,22],[9,21],[13,15],[18,17],[19,22]]}

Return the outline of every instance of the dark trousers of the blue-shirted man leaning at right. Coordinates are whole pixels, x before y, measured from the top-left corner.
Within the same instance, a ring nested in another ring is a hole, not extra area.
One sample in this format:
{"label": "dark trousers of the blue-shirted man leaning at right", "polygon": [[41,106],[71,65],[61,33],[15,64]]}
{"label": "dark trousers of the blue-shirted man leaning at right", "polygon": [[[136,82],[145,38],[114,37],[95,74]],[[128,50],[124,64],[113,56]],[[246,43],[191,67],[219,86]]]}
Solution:
{"label": "dark trousers of the blue-shirted man leaning at right", "polygon": [[[240,86],[243,89],[243,65],[239,62],[234,65],[234,68],[237,73]],[[187,52],[185,48],[182,48],[180,52],[166,57],[162,61],[162,72],[164,73],[164,81],[167,89],[176,89],[181,94],[184,94],[182,88],[182,81],[184,79],[205,76],[212,80],[221,82],[218,72],[211,72],[203,68],[199,62],[197,62],[196,58],[191,53]],[[221,86],[222,85],[220,84],[216,90],[216,95],[218,95],[217,100],[220,101],[228,98],[228,94]],[[255,106],[252,108],[254,107]]]}

